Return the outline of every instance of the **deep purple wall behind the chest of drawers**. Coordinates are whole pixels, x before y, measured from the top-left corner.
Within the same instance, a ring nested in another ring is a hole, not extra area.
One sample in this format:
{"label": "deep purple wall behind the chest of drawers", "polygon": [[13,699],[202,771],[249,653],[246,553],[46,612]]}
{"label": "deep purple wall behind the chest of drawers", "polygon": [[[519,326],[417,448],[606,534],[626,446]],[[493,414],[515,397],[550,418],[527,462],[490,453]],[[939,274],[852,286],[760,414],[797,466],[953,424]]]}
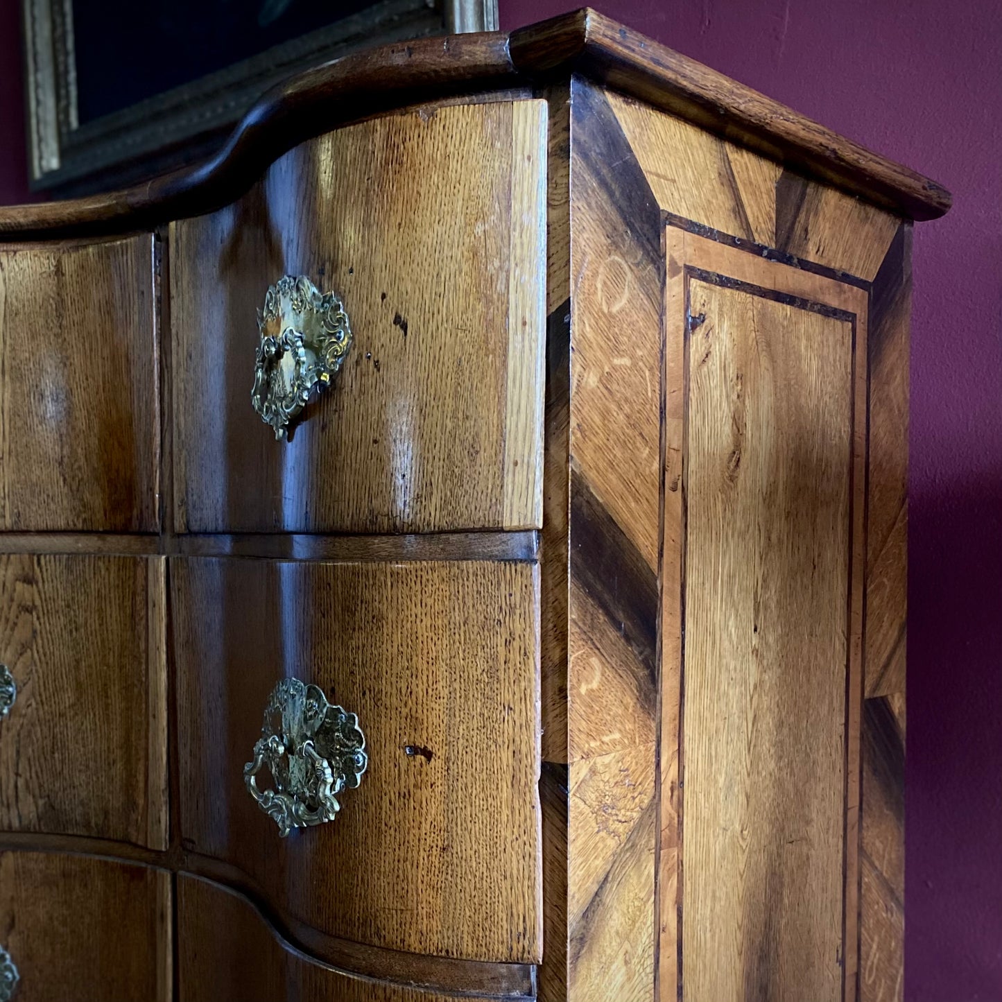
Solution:
{"label": "deep purple wall behind the chest of drawers", "polygon": [[[577,4],[500,0],[515,28]],[[0,202],[27,194],[0,0]],[[909,1002],[1002,1000],[1002,9],[977,0],[599,0],[631,27],[946,184],[916,227]]]}

